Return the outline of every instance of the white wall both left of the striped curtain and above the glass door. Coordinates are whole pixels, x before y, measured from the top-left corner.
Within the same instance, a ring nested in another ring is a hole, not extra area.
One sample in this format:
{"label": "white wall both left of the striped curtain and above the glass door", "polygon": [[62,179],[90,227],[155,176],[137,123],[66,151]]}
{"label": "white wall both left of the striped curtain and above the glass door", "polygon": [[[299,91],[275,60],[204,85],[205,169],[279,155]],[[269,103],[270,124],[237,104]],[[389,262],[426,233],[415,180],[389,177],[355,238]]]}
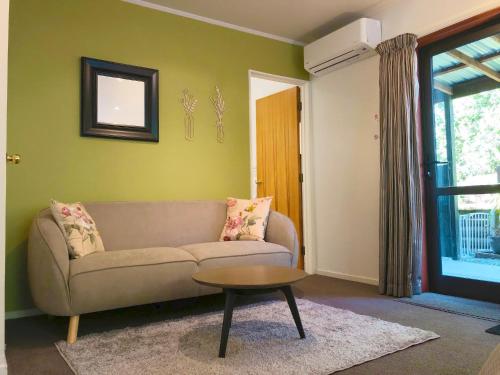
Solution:
{"label": "white wall both left of the striped curtain and above the glass door", "polygon": [[[383,39],[423,36],[500,5],[498,0],[386,0],[365,16]],[[317,272],[378,282],[378,57],[312,81],[313,220]]]}

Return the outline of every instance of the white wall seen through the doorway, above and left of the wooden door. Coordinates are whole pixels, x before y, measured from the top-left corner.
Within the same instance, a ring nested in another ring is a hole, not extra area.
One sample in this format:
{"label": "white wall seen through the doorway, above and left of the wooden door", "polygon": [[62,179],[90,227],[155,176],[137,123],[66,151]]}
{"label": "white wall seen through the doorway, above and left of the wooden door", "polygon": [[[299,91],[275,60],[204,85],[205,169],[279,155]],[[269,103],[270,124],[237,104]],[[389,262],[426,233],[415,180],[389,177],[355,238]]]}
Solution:
{"label": "white wall seen through the doorway, above and left of the wooden door", "polygon": [[257,197],[257,124],[256,106],[257,99],[276,94],[277,92],[294,87],[294,85],[272,81],[269,79],[250,77],[250,195]]}

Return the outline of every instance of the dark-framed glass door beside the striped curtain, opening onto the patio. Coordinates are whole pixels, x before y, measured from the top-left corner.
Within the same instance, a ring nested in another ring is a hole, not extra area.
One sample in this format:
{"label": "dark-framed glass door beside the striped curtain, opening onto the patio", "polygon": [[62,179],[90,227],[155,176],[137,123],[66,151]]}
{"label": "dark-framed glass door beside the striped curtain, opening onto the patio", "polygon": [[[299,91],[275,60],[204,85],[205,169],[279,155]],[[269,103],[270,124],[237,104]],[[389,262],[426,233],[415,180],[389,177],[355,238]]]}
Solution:
{"label": "dark-framed glass door beside the striped curtain, opening onto the patio", "polygon": [[500,24],[419,52],[432,291],[500,302]]}

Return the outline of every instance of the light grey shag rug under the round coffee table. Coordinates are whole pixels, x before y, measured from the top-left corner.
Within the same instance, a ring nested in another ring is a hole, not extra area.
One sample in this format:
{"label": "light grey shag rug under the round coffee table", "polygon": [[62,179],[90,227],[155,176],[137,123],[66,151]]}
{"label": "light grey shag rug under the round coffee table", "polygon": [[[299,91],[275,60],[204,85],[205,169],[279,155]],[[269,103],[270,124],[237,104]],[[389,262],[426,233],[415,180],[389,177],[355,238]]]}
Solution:
{"label": "light grey shag rug under the round coffee table", "polygon": [[78,375],[330,374],[438,338],[297,300],[301,340],[286,302],[235,309],[226,358],[218,358],[222,312],[80,337],[56,347]]}

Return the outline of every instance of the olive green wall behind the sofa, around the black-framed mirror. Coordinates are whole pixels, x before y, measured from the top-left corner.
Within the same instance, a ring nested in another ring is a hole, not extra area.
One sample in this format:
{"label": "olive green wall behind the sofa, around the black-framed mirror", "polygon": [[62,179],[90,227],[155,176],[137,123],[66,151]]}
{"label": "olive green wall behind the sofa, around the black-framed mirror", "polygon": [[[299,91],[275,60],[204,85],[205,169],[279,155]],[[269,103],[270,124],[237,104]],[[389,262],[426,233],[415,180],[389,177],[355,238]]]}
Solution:
{"label": "olive green wall behind the sofa, around the black-framed mirror", "polygon": [[[160,142],[79,136],[80,57],[160,71]],[[31,308],[26,240],[36,212],[62,201],[249,195],[248,70],[307,79],[302,48],[119,0],[11,0],[6,310]],[[209,102],[219,85],[226,138]],[[184,140],[181,91],[199,99]]]}

